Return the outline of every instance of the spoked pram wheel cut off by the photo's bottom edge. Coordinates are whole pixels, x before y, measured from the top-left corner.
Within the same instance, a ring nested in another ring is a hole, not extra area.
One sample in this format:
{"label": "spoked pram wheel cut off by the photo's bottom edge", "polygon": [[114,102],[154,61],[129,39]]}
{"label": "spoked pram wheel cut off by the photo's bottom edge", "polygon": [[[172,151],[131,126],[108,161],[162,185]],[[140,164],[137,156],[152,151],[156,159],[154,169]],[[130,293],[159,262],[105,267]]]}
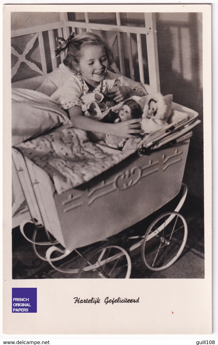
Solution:
{"label": "spoked pram wheel cut off by the photo's bottom edge", "polygon": [[94,251],[80,268],[78,278],[129,278],[131,258],[119,246],[106,246]]}

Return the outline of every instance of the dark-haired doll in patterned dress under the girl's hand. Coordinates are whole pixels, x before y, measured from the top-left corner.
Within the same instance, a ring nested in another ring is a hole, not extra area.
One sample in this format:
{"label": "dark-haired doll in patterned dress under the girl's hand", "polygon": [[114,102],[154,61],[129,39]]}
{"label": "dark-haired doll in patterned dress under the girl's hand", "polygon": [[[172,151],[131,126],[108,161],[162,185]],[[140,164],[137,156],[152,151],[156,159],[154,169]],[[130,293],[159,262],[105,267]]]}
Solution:
{"label": "dark-haired doll in patterned dress under the girl's hand", "polygon": [[[118,113],[118,118],[114,123],[127,121],[131,119],[139,119],[142,117],[142,108],[134,99],[127,99]],[[132,139],[132,138],[130,138]],[[106,135],[105,143],[111,148],[122,150],[128,138],[117,137],[115,135]],[[131,142],[131,148],[134,148],[136,144],[141,140],[141,138],[134,138]]]}

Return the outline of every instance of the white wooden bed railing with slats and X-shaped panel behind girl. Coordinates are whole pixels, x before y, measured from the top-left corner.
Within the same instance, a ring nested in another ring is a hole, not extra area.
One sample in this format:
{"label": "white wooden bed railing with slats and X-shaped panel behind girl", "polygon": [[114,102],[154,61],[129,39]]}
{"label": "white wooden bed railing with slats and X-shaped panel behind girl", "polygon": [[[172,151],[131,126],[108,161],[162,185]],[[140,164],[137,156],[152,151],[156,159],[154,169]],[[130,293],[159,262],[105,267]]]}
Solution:
{"label": "white wooden bed railing with slats and X-shaped panel behind girl", "polygon": [[[12,67],[11,76],[17,73],[20,63],[23,61],[27,63],[27,65],[40,73],[41,75],[46,75],[48,73],[48,68],[46,64],[46,55],[45,55],[45,47],[46,42],[43,39],[43,32],[48,32],[49,37],[49,50],[51,55],[51,63],[52,69],[58,67],[58,59],[55,58],[55,34],[54,30],[58,31],[58,36],[63,37],[65,39],[68,38],[70,34],[70,30],[75,32],[83,32],[83,31],[90,31],[90,30],[100,30],[100,31],[111,31],[117,32],[117,41],[118,41],[118,54],[119,54],[119,61],[120,61],[120,73],[122,75],[125,74],[125,66],[124,66],[124,56],[123,56],[123,41],[122,41],[122,32],[127,34],[127,46],[128,46],[128,61],[129,61],[129,70],[131,79],[135,80],[134,75],[134,66],[133,66],[133,56],[132,56],[132,43],[131,43],[131,34],[136,34],[137,37],[137,53],[138,53],[138,67],[139,67],[139,75],[140,75],[140,82],[145,84],[145,77],[144,77],[144,66],[143,66],[143,47],[142,47],[142,35],[146,35],[146,43],[147,43],[147,58],[148,58],[148,72],[149,72],[149,85],[146,85],[146,89],[148,91],[160,91],[160,81],[159,81],[159,66],[158,66],[158,53],[157,53],[157,35],[156,35],[156,19],[155,13],[144,13],[145,17],[145,27],[128,27],[121,25],[120,13],[116,13],[116,22],[117,25],[111,24],[97,24],[97,23],[90,23],[89,22],[89,13],[85,13],[85,22],[77,22],[77,21],[69,21],[67,13],[60,13],[60,21],[52,22],[48,24],[41,24],[34,27],[23,28],[18,30],[11,31],[11,37],[19,37],[23,35],[30,35],[30,41],[27,43],[24,52],[20,55],[13,47],[11,48],[11,53],[18,57],[18,62],[15,63],[15,66]],[[42,70],[39,69],[37,65],[33,62],[30,62],[25,58],[29,50],[33,47],[33,44],[36,39],[39,39],[39,49],[40,49],[40,57],[41,57],[41,65]],[[61,62],[64,59],[64,54],[60,56]],[[32,82],[33,80],[38,79],[31,78],[25,80],[23,85],[28,85],[28,82]],[[20,82],[13,83],[13,87],[20,87]]]}

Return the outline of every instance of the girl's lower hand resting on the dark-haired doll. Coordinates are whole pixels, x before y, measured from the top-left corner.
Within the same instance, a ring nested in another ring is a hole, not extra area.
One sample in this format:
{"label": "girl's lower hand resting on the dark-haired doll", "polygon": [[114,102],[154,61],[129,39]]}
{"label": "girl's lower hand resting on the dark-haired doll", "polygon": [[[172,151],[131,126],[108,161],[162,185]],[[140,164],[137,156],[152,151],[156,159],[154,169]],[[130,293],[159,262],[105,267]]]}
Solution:
{"label": "girl's lower hand resting on the dark-haired doll", "polygon": [[113,125],[113,135],[123,138],[138,138],[144,134],[144,131],[141,129],[141,121],[142,119],[132,119],[118,122]]}

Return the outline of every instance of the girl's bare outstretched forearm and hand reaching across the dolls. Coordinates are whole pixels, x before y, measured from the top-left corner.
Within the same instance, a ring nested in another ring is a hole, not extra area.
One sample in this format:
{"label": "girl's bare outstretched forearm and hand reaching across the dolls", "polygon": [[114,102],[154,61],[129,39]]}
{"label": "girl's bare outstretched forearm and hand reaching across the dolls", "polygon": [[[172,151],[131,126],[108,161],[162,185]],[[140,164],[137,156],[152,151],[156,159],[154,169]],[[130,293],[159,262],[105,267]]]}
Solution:
{"label": "girl's bare outstretched forearm and hand reaching across the dolls", "polygon": [[90,132],[113,134],[124,138],[135,138],[137,135],[144,133],[141,129],[141,119],[132,119],[119,122],[118,124],[107,124],[83,116],[79,106],[72,107],[68,110],[71,122],[76,128]]}

